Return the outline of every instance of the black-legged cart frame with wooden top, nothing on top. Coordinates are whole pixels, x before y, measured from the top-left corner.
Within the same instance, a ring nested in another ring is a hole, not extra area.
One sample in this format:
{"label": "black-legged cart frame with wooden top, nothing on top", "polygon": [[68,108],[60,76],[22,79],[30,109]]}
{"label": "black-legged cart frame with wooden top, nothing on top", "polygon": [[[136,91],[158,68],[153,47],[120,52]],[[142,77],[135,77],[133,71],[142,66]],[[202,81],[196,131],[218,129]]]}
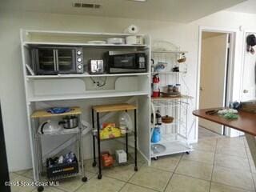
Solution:
{"label": "black-legged cart frame with wooden top, nothing on top", "polygon": [[[126,154],[128,158],[128,137],[131,134],[134,134],[134,170],[138,170],[137,166],[137,106],[130,105],[130,104],[114,104],[114,105],[102,105],[102,106],[93,106],[92,107],[92,125],[93,125],[93,146],[94,146],[94,162],[92,166],[96,166],[96,140],[98,144],[98,179],[102,178],[102,158],[101,158],[101,142],[115,139],[115,138],[107,138],[107,139],[101,139],[100,138],[100,130],[101,125],[99,121],[99,114],[100,113],[108,113],[108,112],[117,112],[117,111],[128,111],[128,110],[134,110],[134,131],[133,133],[127,133],[121,134],[121,137],[117,138],[126,138]],[[97,128],[95,128],[95,119],[94,119],[94,113],[96,113],[96,125]]]}

